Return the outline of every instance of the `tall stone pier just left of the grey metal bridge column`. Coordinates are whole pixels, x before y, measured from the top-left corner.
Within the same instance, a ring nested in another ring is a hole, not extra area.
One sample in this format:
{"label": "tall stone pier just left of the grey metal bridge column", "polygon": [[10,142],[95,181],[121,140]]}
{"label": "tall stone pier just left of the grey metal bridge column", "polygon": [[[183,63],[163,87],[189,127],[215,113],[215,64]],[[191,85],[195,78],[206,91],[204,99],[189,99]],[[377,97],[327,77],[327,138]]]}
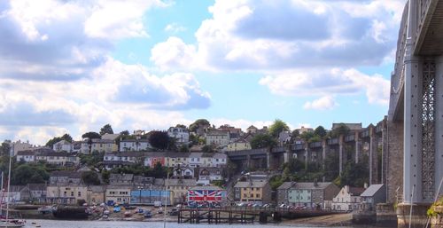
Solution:
{"label": "tall stone pier just left of the grey metal bridge column", "polygon": [[387,202],[396,202],[396,191],[403,193],[403,122],[387,122]]}

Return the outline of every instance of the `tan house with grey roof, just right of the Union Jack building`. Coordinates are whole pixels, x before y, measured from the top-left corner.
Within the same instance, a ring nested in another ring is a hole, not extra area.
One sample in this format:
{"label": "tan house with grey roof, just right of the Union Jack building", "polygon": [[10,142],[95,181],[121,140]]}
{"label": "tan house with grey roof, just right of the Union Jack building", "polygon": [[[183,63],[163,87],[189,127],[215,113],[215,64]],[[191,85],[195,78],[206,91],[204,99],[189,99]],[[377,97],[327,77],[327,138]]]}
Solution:
{"label": "tan house with grey roof, just right of the Union Jack building", "polygon": [[271,187],[268,180],[263,181],[238,181],[234,185],[234,200],[252,201],[265,204],[271,200]]}

